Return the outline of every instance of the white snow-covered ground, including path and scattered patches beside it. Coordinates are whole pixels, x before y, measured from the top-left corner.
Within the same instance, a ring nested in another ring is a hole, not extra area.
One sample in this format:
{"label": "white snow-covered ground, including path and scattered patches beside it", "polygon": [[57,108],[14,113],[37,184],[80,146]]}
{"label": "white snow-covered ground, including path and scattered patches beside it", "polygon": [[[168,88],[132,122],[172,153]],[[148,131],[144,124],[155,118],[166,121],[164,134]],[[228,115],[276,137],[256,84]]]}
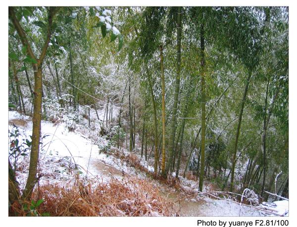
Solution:
{"label": "white snow-covered ground, including path and scattered patches beside it", "polygon": [[[104,109],[98,110],[99,117],[102,116],[102,112],[104,112]],[[94,110],[91,113],[91,119],[97,118]],[[32,121],[30,117],[10,111],[10,131],[13,130],[13,124],[17,126],[23,135],[23,138],[20,138],[20,140],[25,140],[24,137],[28,138],[32,134]],[[103,137],[97,137],[97,132],[88,130],[87,125],[82,126],[82,128],[78,127],[78,130],[69,131],[64,122],[54,124],[49,121],[42,121],[41,132],[43,139],[42,149],[40,151],[40,171],[45,177],[41,178],[40,183],[44,181],[58,182],[63,177],[71,179],[71,173],[66,170],[65,165],[57,165],[58,162],[61,163],[61,160],[67,162],[68,165],[76,165],[80,177],[99,177],[105,182],[108,182],[111,176],[116,178],[129,177],[129,175],[141,178],[146,177],[145,173],[130,167],[124,161],[110,154],[100,153],[98,144],[104,146],[108,141]],[[82,132],[85,132],[85,134]],[[125,149],[122,149],[122,151],[124,154],[128,153]],[[138,157],[140,158],[140,156]],[[21,157],[19,162],[26,163],[28,167],[28,156]],[[149,166],[147,162],[141,161],[141,164],[148,171],[153,171],[153,167]],[[49,177],[52,175],[52,172],[59,177]],[[26,177],[26,171],[20,171],[17,174],[17,180],[20,182],[21,188],[25,184]],[[240,204],[232,201],[218,200],[205,196],[185,198],[186,196],[180,191],[162,185],[156,180],[152,180],[151,182],[161,187],[160,193],[163,196],[173,201],[178,201],[176,206],[180,209],[183,216],[263,216],[262,212],[257,209],[240,206]],[[197,181],[181,178],[180,182],[184,187],[188,187],[193,191],[198,187]],[[205,187],[206,190],[208,190],[208,187]],[[276,206],[273,206],[272,209],[278,212],[279,215],[283,215],[286,209],[288,210],[288,203],[286,202],[274,202]]]}

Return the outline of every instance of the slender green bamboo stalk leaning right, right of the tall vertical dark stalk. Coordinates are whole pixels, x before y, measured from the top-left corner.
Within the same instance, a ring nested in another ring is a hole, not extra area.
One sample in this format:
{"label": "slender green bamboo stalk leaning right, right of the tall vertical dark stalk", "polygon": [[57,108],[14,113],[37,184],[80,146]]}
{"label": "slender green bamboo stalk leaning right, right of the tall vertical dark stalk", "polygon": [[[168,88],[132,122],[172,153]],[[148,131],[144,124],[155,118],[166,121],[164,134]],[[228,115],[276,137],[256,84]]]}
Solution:
{"label": "slender green bamboo stalk leaning right, right of the tall vertical dark stalk", "polygon": [[250,77],[251,77],[251,72],[249,71],[248,76],[247,76],[247,82],[246,82],[244,96],[243,96],[243,99],[242,99],[242,102],[241,102],[240,114],[239,114],[238,124],[237,124],[237,132],[236,132],[236,136],[235,136],[235,144],[234,144],[233,158],[232,158],[232,168],[231,168],[230,191],[233,191],[233,188],[234,188],[234,171],[235,171],[235,165],[236,165],[236,153],[237,153],[238,139],[239,139],[240,127],[241,127],[242,117],[243,117],[246,98],[247,98],[247,90],[248,90]]}

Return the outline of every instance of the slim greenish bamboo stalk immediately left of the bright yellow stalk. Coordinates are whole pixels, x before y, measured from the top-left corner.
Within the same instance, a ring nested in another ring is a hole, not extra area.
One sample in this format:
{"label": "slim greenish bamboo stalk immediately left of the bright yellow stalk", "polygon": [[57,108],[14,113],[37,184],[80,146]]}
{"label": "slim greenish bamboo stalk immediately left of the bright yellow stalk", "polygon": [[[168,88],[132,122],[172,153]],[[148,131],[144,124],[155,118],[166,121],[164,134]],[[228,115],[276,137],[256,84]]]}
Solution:
{"label": "slim greenish bamboo stalk immediately left of the bright yellow stalk", "polygon": [[153,119],[154,119],[154,175],[157,176],[158,171],[158,121],[157,121],[157,112],[156,112],[156,105],[152,90],[152,83],[150,74],[148,74],[148,83],[149,83],[149,90],[151,95],[151,102],[152,102],[152,109],[153,109]]}

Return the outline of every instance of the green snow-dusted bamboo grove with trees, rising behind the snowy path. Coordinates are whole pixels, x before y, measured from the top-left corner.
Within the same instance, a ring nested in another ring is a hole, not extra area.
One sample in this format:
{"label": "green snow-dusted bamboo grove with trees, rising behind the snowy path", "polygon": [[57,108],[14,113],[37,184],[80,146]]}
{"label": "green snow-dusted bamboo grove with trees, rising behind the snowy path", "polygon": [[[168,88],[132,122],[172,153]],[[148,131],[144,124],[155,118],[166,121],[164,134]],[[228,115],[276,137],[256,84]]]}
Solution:
{"label": "green snow-dusted bamboo grove with trees, rising behind the snowy path", "polygon": [[76,113],[98,100],[102,136],[155,178],[268,197],[282,171],[288,196],[287,7],[9,7],[8,25],[9,108],[33,117],[27,185],[20,195],[9,164],[10,200],[39,179],[49,102]]}

